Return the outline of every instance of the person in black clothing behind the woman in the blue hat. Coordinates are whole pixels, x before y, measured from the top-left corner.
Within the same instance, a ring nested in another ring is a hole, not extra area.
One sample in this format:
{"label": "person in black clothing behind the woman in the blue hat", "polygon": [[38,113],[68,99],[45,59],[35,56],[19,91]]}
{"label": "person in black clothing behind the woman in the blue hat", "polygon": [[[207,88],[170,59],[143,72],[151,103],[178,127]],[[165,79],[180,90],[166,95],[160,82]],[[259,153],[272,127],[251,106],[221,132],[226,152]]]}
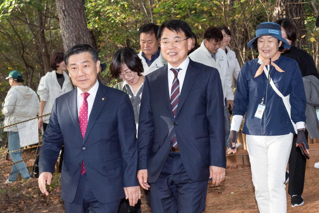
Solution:
{"label": "person in black clothing behind the woman in the blue hat", "polygon": [[[275,21],[281,26],[282,36],[291,45],[295,42],[296,28],[290,19],[278,19]],[[292,58],[298,62],[302,77],[314,75],[319,79],[319,74],[315,66],[314,59],[303,49],[291,46],[289,49],[284,49],[281,55]],[[308,132],[305,130],[305,136],[308,140]],[[297,134],[294,134],[293,144],[297,140]],[[286,171],[286,182],[289,181],[288,194],[291,195],[292,207],[301,206],[304,204],[301,196],[305,181],[306,158],[300,152],[300,148],[293,146],[289,156],[289,173]],[[289,177],[289,180],[288,180]],[[286,183],[285,182],[285,183]]]}

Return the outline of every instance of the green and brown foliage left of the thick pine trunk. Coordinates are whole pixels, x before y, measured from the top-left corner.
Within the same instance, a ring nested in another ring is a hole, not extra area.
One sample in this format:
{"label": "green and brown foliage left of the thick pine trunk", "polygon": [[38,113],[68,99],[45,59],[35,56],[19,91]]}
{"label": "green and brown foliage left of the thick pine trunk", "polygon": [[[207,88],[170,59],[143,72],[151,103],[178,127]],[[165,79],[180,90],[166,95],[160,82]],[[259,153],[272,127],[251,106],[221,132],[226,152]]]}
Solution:
{"label": "green and brown foliage left of the thick pine trunk", "polygon": [[[40,18],[43,18],[43,25]],[[3,0],[0,3],[0,100],[10,86],[4,80],[11,70],[23,73],[25,84],[36,90],[45,72],[40,32],[49,55],[63,51],[55,0]],[[2,93],[2,91],[4,91]]]}

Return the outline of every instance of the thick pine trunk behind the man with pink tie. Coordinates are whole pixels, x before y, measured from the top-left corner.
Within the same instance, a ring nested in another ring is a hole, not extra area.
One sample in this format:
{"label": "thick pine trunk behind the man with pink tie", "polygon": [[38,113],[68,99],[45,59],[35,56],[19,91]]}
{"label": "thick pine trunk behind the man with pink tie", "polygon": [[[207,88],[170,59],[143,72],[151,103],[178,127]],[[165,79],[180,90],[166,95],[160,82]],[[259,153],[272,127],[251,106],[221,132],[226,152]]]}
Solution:
{"label": "thick pine trunk behind the man with pink tie", "polygon": [[65,51],[77,44],[87,43],[95,46],[94,37],[87,28],[82,1],[56,0],[56,10]]}

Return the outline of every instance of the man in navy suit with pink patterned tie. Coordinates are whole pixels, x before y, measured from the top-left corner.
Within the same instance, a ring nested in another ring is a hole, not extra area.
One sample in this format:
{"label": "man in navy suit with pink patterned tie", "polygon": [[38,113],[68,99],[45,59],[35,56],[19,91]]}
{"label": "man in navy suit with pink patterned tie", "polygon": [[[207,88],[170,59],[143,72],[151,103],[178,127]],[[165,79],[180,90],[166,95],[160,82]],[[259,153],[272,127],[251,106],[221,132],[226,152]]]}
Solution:
{"label": "man in navy suit with pink patterned tie", "polygon": [[90,45],[71,47],[64,61],[77,88],[54,103],[40,151],[40,190],[48,195],[46,184],[51,183],[64,143],[61,197],[65,212],[115,213],[123,197],[134,206],[141,193],[129,96],[99,84],[98,52]]}

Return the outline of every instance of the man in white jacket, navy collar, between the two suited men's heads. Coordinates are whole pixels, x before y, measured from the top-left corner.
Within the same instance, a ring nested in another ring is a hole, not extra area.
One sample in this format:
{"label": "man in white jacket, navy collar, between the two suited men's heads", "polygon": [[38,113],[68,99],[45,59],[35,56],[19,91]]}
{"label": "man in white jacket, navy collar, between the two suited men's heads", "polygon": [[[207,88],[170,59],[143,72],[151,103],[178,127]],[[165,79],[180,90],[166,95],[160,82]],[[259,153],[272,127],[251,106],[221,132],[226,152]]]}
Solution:
{"label": "man in white jacket, navy collar, between the two suited men's heads", "polygon": [[141,51],[138,57],[142,60],[144,68],[143,75],[149,74],[167,64],[167,61],[160,52],[157,38],[158,29],[159,26],[150,23],[142,25],[138,30],[141,45]]}

